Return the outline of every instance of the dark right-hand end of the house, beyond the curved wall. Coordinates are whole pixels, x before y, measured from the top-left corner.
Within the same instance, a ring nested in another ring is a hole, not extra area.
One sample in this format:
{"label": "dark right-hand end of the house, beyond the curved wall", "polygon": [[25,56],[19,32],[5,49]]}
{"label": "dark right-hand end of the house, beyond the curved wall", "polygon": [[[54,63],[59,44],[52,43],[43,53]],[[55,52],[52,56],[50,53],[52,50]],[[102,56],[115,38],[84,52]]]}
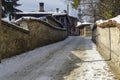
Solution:
{"label": "dark right-hand end of the house, beyond the curved wall", "polygon": [[62,25],[67,28],[68,35],[79,35],[79,29],[76,28],[78,19],[73,16],[69,16],[67,13],[55,13],[53,17],[58,20]]}

